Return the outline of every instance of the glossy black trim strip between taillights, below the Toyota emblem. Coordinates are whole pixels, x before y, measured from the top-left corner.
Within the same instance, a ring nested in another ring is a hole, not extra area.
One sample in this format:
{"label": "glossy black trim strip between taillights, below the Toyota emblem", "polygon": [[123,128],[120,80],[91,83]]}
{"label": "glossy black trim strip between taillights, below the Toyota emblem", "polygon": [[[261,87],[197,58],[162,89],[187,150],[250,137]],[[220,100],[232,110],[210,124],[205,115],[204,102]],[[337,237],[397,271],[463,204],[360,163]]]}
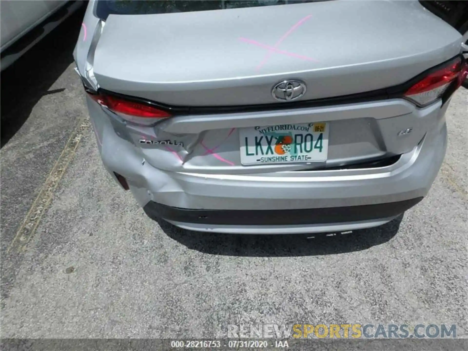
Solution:
{"label": "glossy black trim strip between taillights, below the Toyota emblem", "polygon": [[[168,105],[160,102],[154,102],[148,99],[140,98],[137,96],[129,96],[124,94],[115,93],[103,88],[98,89],[99,94],[108,94],[120,97],[122,99],[145,103],[147,105],[153,106],[155,108],[165,110],[171,113],[173,116],[177,115],[201,115],[201,114],[215,114],[215,113],[240,113],[240,112],[255,112],[255,111],[268,111],[268,110],[285,110],[285,109],[299,109],[307,107],[320,107],[320,106],[329,106],[337,104],[347,104],[347,103],[358,103],[358,102],[370,102],[376,100],[386,100],[394,98],[403,98],[403,94],[411,88],[418,81],[422,80],[428,74],[431,74],[444,66],[448,66],[452,61],[461,58],[462,63],[464,58],[462,55],[456,55],[452,59],[449,59],[440,65],[431,67],[425,70],[423,73],[418,74],[416,77],[407,80],[406,82],[396,85],[394,87],[378,89],[373,91],[368,91],[364,93],[357,93],[351,95],[342,95],[328,97],[324,99],[315,99],[315,100],[304,100],[297,102],[275,102],[268,104],[259,104],[259,105],[241,105],[241,106],[175,106]],[[453,82],[455,86],[456,82]],[[449,88],[447,92],[442,96],[442,102],[445,103],[448,98],[453,94],[454,89]],[[413,102],[414,103],[414,102]]]}

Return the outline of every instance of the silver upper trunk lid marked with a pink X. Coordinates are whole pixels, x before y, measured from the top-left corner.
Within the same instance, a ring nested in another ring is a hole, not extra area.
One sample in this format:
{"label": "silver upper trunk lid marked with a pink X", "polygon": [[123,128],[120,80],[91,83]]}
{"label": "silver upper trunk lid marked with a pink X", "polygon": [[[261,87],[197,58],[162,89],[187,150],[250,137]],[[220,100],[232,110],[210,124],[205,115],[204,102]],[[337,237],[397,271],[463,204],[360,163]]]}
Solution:
{"label": "silver upper trunk lid marked with a pink X", "polygon": [[177,106],[278,103],[387,88],[460,52],[458,32],[407,1],[325,1],[109,15],[94,54],[99,87]]}

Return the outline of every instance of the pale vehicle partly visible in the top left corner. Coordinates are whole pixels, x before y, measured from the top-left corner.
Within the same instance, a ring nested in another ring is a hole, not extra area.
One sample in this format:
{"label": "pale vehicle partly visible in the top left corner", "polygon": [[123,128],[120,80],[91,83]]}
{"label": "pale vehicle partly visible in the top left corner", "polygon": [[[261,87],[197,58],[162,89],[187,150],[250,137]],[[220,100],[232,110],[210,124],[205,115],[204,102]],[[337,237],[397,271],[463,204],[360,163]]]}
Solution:
{"label": "pale vehicle partly visible in the top left corner", "polygon": [[1,70],[82,6],[82,1],[0,1]]}

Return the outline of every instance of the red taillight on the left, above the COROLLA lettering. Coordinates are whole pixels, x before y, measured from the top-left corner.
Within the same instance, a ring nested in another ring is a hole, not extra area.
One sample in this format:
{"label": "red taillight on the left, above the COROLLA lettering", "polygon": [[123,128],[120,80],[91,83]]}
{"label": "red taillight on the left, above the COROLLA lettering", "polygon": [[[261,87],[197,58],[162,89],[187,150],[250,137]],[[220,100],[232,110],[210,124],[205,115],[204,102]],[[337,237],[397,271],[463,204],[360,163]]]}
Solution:
{"label": "red taillight on the left, above the COROLLA lettering", "polygon": [[126,116],[142,118],[166,118],[171,116],[168,112],[145,103],[133,102],[112,95],[89,94],[89,96],[109,110]]}

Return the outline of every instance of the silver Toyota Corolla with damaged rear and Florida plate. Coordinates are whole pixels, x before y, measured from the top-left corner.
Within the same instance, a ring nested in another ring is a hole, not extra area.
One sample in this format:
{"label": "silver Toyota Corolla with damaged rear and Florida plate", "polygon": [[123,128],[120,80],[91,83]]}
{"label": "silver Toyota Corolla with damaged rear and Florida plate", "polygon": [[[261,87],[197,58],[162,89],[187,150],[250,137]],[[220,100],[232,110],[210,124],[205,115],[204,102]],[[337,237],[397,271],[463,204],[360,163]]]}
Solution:
{"label": "silver Toyota Corolla with damaged rear and Florida plate", "polygon": [[461,44],[417,1],[90,1],[74,59],[103,164],[150,217],[314,233],[427,194]]}

